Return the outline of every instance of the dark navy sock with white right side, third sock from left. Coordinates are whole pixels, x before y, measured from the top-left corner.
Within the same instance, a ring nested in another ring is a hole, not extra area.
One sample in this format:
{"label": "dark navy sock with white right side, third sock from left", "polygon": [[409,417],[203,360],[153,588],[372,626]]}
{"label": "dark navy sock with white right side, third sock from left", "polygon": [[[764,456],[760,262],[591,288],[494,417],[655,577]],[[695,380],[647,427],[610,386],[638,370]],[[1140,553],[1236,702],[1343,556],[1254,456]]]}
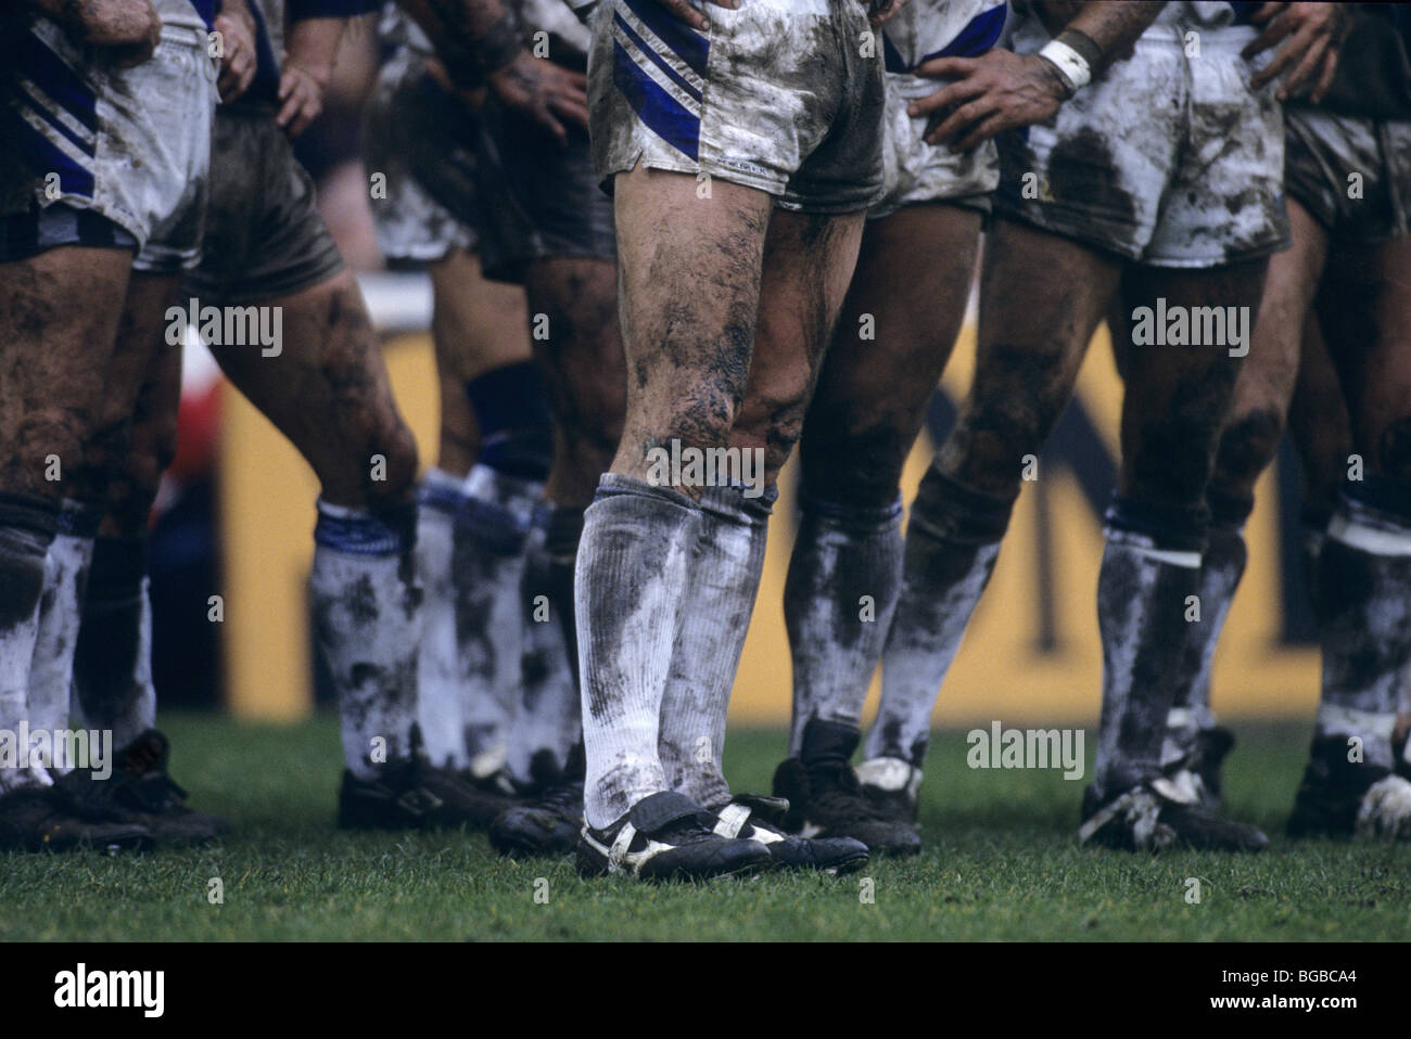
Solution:
{"label": "dark navy sock with white right side, third sock from left", "polygon": [[126,747],[157,725],[148,588],[145,537],[93,543],[73,656],[72,709],[86,727],[110,729],[114,747]]}

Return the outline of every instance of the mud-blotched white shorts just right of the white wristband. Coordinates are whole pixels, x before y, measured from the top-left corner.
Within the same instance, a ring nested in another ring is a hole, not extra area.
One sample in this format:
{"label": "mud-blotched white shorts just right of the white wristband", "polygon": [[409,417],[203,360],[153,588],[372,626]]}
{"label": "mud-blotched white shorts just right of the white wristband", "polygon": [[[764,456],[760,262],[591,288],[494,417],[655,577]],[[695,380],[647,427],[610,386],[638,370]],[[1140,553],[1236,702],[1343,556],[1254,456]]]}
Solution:
{"label": "mud-blotched white shorts just right of the white wristband", "polygon": [[[1249,87],[1239,52],[1253,35],[1205,30],[1187,58],[1180,25],[1151,25],[1050,123],[1002,135],[996,211],[1150,266],[1285,248],[1283,111],[1274,85]],[[1047,39],[1027,20],[1015,49]]]}

